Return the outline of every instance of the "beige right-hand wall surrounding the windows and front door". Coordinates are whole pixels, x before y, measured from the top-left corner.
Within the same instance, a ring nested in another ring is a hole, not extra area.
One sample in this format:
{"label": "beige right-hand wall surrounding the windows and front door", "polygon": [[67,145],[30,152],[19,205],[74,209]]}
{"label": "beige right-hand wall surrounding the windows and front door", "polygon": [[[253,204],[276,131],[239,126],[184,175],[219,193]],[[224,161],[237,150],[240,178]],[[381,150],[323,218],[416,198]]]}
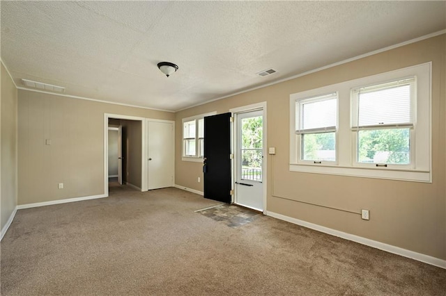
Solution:
{"label": "beige right-hand wall surrounding the windows and front door", "polygon": [[[267,88],[176,113],[176,184],[203,190],[201,163],[181,161],[181,119],[266,101],[268,147],[267,210],[338,231],[446,259],[446,35],[308,74]],[[390,181],[289,171],[289,95],[324,85],[432,61],[432,183]],[[274,171],[272,171],[274,162]],[[275,192],[271,191],[274,182]],[[360,212],[360,215],[302,202]]]}

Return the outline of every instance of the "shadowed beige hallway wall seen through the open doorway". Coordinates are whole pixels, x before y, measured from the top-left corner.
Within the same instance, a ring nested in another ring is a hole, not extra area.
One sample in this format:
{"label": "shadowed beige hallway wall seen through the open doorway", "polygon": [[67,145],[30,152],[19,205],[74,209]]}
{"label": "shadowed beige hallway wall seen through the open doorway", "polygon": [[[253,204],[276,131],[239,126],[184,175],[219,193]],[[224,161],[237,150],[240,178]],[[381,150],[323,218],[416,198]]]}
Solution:
{"label": "shadowed beige hallway wall seen through the open doorway", "polygon": [[140,121],[121,120],[125,129],[125,172],[127,183],[141,188],[141,163],[142,163],[142,125]]}

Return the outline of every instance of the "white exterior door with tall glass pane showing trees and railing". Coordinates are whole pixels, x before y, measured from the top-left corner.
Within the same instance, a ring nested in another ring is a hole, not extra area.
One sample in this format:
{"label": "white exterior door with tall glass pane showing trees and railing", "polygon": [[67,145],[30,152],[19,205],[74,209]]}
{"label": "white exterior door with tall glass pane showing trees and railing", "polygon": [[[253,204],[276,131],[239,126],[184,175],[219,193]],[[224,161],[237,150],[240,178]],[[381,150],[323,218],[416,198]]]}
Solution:
{"label": "white exterior door with tall glass pane showing trees and railing", "polygon": [[236,204],[263,211],[263,110],[237,115]]}

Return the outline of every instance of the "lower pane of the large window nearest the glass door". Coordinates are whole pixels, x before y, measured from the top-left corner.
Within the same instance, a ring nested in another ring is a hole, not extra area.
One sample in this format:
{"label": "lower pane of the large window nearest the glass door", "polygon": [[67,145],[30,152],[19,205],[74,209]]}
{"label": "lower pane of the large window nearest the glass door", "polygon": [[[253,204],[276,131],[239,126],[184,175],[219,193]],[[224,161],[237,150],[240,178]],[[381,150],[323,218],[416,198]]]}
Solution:
{"label": "lower pane of the large window nearest the glass door", "polygon": [[335,133],[306,133],[302,135],[302,160],[336,161]]}

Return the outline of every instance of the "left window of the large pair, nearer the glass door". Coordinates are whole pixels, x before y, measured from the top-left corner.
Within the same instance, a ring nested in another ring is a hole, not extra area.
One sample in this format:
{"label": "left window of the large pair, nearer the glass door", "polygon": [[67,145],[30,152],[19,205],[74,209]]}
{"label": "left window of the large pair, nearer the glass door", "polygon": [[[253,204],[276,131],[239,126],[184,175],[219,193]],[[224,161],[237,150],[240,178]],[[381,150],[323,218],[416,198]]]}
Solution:
{"label": "left window of the large pair, nearer the glass door", "polygon": [[336,161],[337,92],[295,101],[298,162]]}

